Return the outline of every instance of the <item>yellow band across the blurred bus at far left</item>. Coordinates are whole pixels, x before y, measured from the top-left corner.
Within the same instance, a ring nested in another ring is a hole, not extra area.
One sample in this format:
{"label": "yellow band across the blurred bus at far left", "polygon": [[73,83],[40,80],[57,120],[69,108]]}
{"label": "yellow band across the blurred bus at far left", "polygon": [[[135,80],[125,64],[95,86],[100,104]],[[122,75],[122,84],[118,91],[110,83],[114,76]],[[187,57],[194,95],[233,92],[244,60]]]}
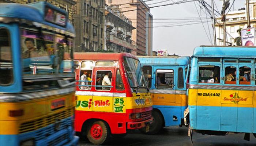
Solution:
{"label": "yellow band across the blurred bus at far left", "polygon": [[[57,95],[22,102],[0,102],[0,134],[19,134],[19,128],[22,123],[34,122],[38,119],[45,119],[46,116],[67,111],[67,109],[75,105],[74,94],[75,92],[68,95]],[[59,100],[64,101],[63,106],[58,107],[60,104],[57,103],[57,108],[54,108],[54,101]],[[22,116],[10,116],[10,111],[15,110],[23,110],[24,114]],[[48,126],[48,123],[42,124]],[[31,129],[34,128],[35,126],[31,126]]]}

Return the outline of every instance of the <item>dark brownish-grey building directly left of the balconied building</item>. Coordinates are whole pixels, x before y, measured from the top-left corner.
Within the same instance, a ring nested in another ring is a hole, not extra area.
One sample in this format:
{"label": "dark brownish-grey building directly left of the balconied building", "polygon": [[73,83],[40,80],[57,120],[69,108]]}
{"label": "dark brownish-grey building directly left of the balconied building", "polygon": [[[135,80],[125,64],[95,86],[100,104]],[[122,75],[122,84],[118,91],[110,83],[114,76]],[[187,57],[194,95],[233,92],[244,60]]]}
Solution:
{"label": "dark brownish-grey building directly left of the balconied building", "polygon": [[105,49],[105,0],[77,0],[74,15],[77,52]]}

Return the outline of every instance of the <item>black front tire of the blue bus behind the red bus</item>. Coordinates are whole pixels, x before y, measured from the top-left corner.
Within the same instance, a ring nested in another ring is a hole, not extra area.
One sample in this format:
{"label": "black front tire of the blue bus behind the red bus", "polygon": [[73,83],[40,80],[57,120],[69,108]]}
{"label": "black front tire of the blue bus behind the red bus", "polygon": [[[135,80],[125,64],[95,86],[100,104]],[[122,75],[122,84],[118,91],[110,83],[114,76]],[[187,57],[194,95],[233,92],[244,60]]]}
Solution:
{"label": "black front tire of the blue bus behind the red bus", "polygon": [[149,131],[146,133],[146,128],[142,128],[140,131],[146,134],[157,134],[163,127],[163,117],[160,112],[152,111],[153,122],[150,125]]}

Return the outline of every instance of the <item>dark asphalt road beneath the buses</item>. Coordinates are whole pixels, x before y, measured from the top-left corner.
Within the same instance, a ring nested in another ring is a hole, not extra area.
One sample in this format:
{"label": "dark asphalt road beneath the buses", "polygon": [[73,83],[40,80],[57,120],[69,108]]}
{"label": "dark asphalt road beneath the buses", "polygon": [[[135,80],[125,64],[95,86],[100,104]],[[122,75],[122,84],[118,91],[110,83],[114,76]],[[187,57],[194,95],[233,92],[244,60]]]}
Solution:
{"label": "dark asphalt road beneath the buses", "polygon": [[[124,138],[110,139],[106,146],[191,146],[187,127],[172,126],[163,128],[157,135],[146,135],[140,131],[129,132]],[[229,133],[226,136],[202,135],[193,132],[193,146],[256,146],[256,138],[244,140],[244,134]],[[80,140],[79,146],[93,146]]]}

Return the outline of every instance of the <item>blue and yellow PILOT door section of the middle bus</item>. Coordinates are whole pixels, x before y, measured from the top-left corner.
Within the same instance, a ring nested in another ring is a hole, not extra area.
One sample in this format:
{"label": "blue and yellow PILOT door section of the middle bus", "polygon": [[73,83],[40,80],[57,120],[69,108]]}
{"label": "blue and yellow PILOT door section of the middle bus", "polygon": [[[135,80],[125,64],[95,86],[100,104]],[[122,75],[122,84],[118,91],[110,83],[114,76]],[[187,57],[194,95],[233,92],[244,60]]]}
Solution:
{"label": "blue and yellow PILOT door section of the middle bus", "polygon": [[[165,126],[180,124],[180,108],[176,104],[176,67],[154,67],[153,107],[158,108],[165,119]],[[172,108],[172,110],[170,110]]]}

